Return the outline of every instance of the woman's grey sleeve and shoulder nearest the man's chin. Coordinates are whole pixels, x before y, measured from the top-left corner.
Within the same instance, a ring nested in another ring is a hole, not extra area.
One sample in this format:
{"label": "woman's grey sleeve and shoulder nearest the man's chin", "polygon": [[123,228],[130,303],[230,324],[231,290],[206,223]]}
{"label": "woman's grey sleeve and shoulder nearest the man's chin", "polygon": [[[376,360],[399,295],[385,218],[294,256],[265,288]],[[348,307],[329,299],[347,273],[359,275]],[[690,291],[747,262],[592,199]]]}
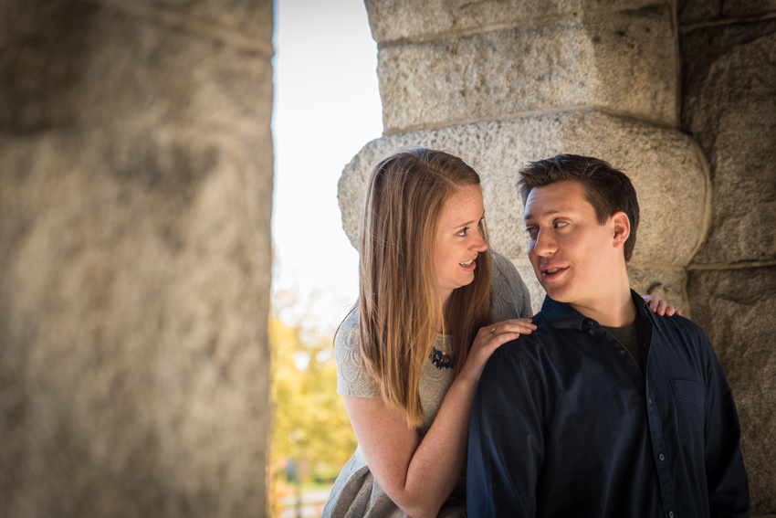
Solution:
{"label": "woman's grey sleeve and shoulder nearest the man's chin", "polygon": [[493,321],[502,322],[530,315],[530,292],[512,261],[491,251],[490,293]]}

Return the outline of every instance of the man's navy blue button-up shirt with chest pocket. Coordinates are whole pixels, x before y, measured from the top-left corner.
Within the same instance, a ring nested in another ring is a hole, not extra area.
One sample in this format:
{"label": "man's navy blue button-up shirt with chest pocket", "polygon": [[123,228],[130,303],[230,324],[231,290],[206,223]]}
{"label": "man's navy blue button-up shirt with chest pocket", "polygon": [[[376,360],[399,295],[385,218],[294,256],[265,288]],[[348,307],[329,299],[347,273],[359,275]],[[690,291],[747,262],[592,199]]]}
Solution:
{"label": "man's navy blue button-up shirt with chest pocket", "polygon": [[470,518],[749,516],[739,418],[706,333],[632,294],[644,373],[549,297],[539,329],[491,356],[469,428]]}

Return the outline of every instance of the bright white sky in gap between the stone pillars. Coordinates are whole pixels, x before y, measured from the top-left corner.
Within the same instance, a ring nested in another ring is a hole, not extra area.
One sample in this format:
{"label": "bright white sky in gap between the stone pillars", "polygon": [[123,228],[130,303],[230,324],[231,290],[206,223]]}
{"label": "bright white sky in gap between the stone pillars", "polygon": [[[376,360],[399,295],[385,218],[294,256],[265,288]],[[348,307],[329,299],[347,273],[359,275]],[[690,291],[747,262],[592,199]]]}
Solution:
{"label": "bright white sky in gap between the stone pillars", "polygon": [[358,296],[342,230],[342,169],[383,133],[377,45],[362,0],[278,0],[272,291],[297,294],[288,323],[331,333]]}

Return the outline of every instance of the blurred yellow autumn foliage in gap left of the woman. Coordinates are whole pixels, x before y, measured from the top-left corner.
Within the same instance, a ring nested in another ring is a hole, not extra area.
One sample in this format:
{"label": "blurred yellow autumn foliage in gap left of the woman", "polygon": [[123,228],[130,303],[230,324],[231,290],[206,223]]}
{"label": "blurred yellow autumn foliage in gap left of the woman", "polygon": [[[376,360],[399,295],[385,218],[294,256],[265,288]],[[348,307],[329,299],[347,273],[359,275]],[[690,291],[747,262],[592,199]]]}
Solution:
{"label": "blurred yellow autumn foliage in gap left of the woman", "polygon": [[[280,293],[274,299],[269,317],[273,405],[269,464],[270,492],[277,493],[284,491],[289,460],[296,462],[303,482],[333,481],[357,441],[337,394],[332,336],[280,322],[279,309],[293,303],[294,297]],[[282,495],[269,496],[277,501]]]}

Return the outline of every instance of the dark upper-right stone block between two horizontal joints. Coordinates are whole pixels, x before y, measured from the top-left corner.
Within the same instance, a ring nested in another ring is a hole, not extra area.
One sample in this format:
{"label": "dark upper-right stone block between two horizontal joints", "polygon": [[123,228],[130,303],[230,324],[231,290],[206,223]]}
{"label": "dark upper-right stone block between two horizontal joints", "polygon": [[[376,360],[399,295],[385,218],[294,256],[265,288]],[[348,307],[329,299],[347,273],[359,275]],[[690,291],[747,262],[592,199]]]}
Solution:
{"label": "dark upper-right stone block between two horizontal joints", "polygon": [[681,48],[682,122],[708,156],[714,193],[695,261],[774,260],[776,20],[697,29]]}

